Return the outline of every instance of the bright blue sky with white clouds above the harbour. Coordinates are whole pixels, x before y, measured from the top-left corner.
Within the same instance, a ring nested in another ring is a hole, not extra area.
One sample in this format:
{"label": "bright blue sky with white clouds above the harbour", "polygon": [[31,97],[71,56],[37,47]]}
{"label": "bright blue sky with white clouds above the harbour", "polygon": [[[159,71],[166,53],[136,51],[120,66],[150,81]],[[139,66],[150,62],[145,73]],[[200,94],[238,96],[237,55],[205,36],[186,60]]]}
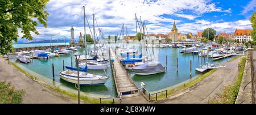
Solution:
{"label": "bright blue sky with white clouds above the harbour", "polygon": [[69,39],[71,26],[78,38],[80,32],[84,34],[84,5],[89,25],[95,14],[105,36],[119,34],[123,23],[127,33],[135,35],[135,13],[145,20],[148,33],[166,34],[174,20],[181,33],[195,34],[207,27],[233,33],[236,28],[251,29],[250,15],[256,10],[256,0],[50,0],[47,28],[36,27],[40,35],[34,38]]}

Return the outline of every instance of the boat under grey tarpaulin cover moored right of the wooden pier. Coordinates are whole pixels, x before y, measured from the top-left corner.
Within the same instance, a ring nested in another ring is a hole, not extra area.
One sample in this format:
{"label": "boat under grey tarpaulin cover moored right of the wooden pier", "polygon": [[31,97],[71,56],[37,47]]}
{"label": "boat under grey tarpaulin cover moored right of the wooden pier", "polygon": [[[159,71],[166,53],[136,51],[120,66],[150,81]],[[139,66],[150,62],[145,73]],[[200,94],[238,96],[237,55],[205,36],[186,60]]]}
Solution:
{"label": "boat under grey tarpaulin cover moored right of the wooden pier", "polygon": [[132,71],[134,74],[137,75],[152,75],[152,74],[158,74],[158,73],[164,73],[165,67],[162,66],[162,64],[158,61],[153,62],[146,62],[142,65],[135,66],[132,68]]}

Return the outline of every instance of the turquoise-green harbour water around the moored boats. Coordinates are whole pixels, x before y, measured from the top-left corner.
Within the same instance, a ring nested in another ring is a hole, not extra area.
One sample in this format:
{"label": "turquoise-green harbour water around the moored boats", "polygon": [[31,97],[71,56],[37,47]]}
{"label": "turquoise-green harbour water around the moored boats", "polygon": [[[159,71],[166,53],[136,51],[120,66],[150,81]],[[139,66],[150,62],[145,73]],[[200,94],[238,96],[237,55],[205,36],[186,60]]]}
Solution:
{"label": "turquoise-green harbour water around the moored boats", "polygon": [[[17,46],[20,44],[17,44]],[[34,44],[35,45],[35,44]],[[91,45],[88,45],[88,49]],[[139,49],[139,53],[142,52],[142,49]],[[166,56],[168,57],[168,65],[166,73],[155,74],[155,75],[146,75],[140,76],[135,75],[133,72],[129,71],[129,75],[137,84],[141,86],[141,82],[146,84],[146,89],[150,92],[161,90],[163,88],[175,86],[185,80],[191,79],[198,75],[195,71],[197,67],[200,67],[201,57],[197,54],[191,53],[179,53],[181,49],[179,48],[153,48],[151,51],[151,56],[154,56],[156,61],[162,63],[163,66],[166,66]],[[78,52],[84,53],[83,49],[80,49]],[[154,53],[153,53],[154,52]],[[76,53],[76,52],[74,52]],[[44,78],[48,79],[49,83],[52,83],[52,63],[54,64],[55,71],[55,82],[59,83],[61,87],[67,87],[67,89],[76,90],[75,84],[68,83],[59,77],[60,71],[63,71],[63,60],[65,66],[71,66],[71,57],[73,61],[73,67],[76,67],[75,56],[73,54],[68,54],[66,56],[53,57],[49,59],[32,59],[31,63],[20,63],[17,60],[12,60],[17,65],[22,67],[25,70],[29,70],[28,73],[36,73]],[[179,61],[179,71],[176,70],[176,58]],[[226,62],[230,58],[220,59],[218,61],[213,61],[211,58],[208,58],[209,63],[212,62]],[[192,61],[192,75],[190,76],[190,60]],[[207,62],[207,57],[202,58],[203,64]],[[86,93],[91,93],[94,95],[105,95],[109,97],[114,97],[117,95],[115,91],[115,85],[112,78],[112,73],[110,71],[110,66],[104,73],[103,70],[88,70],[88,73],[97,74],[97,75],[106,75],[109,76],[108,82],[102,85],[97,86],[81,86],[81,91]]]}

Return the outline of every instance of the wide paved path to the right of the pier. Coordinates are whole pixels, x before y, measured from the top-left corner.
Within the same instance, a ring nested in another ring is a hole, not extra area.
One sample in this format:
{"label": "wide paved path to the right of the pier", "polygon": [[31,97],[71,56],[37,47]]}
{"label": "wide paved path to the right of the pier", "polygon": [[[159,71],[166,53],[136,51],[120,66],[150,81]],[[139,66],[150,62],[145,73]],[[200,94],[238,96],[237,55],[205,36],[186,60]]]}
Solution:
{"label": "wide paved path to the right of the pier", "polygon": [[240,59],[226,63],[225,68],[216,70],[195,86],[168,97],[170,99],[158,101],[158,103],[207,103],[210,97],[221,93],[227,83],[233,84],[236,81]]}

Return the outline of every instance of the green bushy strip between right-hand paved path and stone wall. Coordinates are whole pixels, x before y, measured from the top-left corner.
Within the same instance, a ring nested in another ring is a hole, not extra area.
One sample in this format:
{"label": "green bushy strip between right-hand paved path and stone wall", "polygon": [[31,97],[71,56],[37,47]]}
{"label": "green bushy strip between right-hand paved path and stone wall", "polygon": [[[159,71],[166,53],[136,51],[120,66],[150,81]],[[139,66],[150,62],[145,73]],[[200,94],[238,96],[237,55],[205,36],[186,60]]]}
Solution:
{"label": "green bushy strip between right-hand paved path and stone wall", "polygon": [[208,103],[210,104],[234,104],[237,99],[237,95],[241,86],[243,72],[245,70],[246,57],[242,57],[241,61],[238,63],[238,77],[233,85],[226,84],[224,86],[224,91],[217,94],[215,97],[210,98]]}

